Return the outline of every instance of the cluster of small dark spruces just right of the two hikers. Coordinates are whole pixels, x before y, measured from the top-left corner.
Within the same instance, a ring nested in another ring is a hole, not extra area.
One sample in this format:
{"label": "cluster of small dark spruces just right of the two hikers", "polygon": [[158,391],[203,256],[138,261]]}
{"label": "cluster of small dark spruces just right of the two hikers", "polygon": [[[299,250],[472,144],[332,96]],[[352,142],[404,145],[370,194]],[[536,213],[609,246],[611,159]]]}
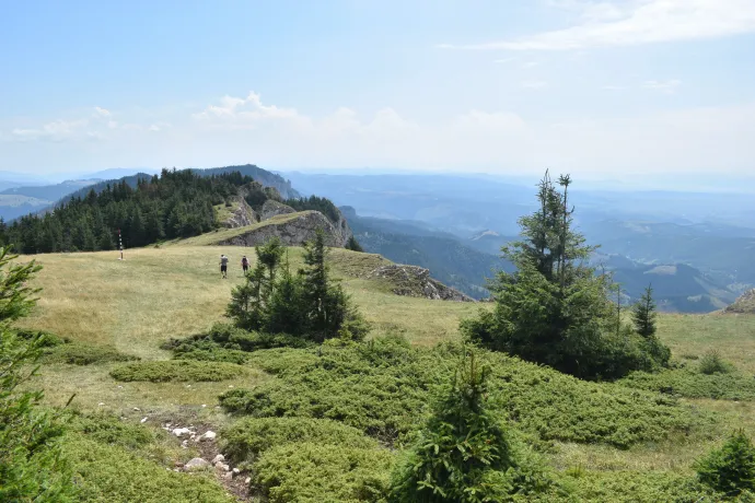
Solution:
{"label": "cluster of small dark spruces just right of the two hikers", "polygon": [[316,342],[333,337],[364,337],[369,327],[344,289],[330,281],[328,248],[322,232],[305,245],[306,267],[295,276],[288,260],[281,265],[284,247],[279,239],[258,246],[256,253],[257,266],[233,290],[225,309],[236,327],[290,334]]}

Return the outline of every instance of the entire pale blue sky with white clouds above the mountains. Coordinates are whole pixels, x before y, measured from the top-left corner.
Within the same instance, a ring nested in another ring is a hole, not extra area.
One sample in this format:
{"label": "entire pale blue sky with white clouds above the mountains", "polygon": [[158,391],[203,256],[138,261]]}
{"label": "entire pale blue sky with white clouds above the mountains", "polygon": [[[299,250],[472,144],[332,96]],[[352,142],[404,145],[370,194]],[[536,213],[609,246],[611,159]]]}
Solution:
{"label": "entire pale blue sky with white clouds above the mountains", "polygon": [[0,12],[0,171],[755,172],[755,0]]}

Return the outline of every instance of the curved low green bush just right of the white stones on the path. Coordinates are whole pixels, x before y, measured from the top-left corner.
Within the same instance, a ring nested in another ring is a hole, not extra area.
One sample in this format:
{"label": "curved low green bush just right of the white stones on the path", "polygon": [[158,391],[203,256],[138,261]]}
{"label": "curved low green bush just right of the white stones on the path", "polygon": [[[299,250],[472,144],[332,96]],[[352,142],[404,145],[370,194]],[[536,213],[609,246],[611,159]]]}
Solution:
{"label": "curved low green bush just right of the white stones on the path", "polygon": [[276,446],[297,442],[344,448],[376,448],[378,443],[356,428],[325,419],[245,418],[225,429],[221,452],[235,464],[252,463]]}

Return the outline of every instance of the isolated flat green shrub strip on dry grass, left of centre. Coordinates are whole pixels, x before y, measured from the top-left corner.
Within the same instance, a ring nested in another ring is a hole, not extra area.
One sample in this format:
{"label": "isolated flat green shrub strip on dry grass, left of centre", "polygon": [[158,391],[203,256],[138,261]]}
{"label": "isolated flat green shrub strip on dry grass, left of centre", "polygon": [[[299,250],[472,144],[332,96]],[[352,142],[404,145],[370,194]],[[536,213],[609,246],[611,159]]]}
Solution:
{"label": "isolated flat green shrub strip on dry grass, left of centre", "polygon": [[111,371],[116,381],[202,382],[226,381],[245,374],[241,365],[222,362],[193,360],[170,360],[161,362],[135,362],[119,365]]}

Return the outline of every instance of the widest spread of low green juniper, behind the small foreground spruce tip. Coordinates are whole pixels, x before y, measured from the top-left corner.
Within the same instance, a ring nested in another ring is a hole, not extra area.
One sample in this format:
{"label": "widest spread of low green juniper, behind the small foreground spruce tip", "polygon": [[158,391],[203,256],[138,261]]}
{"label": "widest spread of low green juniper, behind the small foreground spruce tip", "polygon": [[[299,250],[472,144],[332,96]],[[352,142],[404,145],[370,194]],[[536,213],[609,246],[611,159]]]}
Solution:
{"label": "widest spread of low green juniper, behind the small foreground spruce tip", "polygon": [[[385,442],[404,438],[426,411],[429,390],[453,375],[460,349],[411,348],[399,338],[252,353],[248,364],[277,376],[221,397],[230,412],[255,418],[333,419]],[[629,447],[701,432],[709,417],[670,397],[576,379],[501,353],[490,365],[490,408],[543,441]]]}

